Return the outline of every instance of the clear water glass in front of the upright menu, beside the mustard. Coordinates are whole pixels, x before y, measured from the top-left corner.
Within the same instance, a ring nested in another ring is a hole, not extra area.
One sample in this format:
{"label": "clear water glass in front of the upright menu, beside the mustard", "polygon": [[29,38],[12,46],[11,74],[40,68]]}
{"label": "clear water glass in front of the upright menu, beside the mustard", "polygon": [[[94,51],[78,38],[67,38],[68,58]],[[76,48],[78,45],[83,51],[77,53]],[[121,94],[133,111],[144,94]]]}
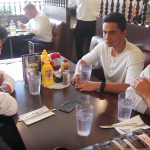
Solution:
{"label": "clear water glass in front of the upright menu, beside the mustard", "polygon": [[28,72],[28,82],[31,95],[40,94],[41,72],[35,70]]}

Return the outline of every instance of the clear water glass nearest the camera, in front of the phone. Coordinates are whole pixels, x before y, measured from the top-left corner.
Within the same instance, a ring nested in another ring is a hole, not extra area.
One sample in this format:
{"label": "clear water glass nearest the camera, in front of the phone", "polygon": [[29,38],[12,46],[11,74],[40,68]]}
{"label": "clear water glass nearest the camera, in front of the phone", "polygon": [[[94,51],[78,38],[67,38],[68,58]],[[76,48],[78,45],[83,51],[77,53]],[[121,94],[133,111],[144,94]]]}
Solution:
{"label": "clear water glass nearest the camera, in front of the phone", "polygon": [[94,116],[94,106],[89,103],[76,105],[77,134],[82,137],[90,135]]}

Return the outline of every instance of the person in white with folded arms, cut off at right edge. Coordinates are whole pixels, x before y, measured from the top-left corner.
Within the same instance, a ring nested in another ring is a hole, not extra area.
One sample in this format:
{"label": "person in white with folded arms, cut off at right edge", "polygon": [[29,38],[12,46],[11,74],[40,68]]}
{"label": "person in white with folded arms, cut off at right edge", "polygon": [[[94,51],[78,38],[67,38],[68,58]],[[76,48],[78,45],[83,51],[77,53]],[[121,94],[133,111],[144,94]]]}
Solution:
{"label": "person in white with folded arms, cut off at right edge", "polygon": [[134,110],[150,116],[150,65],[126,90],[127,98],[135,99]]}

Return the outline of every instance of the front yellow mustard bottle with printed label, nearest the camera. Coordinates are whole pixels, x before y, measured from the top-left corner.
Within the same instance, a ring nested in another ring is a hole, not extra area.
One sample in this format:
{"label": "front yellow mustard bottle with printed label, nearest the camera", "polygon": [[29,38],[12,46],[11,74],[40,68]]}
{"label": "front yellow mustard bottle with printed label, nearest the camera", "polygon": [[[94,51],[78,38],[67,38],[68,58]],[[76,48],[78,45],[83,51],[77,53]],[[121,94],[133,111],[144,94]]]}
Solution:
{"label": "front yellow mustard bottle with printed label, nearest the camera", "polygon": [[43,86],[49,86],[54,84],[54,80],[53,80],[54,70],[50,64],[50,61],[47,58],[44,65],[42,66],[41,74],[42,74]]}

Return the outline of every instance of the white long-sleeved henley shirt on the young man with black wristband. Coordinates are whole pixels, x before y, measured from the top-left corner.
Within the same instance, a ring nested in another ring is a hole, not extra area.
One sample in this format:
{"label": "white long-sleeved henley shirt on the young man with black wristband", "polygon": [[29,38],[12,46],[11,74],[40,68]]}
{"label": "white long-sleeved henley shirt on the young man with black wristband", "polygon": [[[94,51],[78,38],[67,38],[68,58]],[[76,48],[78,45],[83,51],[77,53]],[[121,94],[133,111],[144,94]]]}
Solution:
{"label": "white long-sleeved henley shirt on the young man with black wristband", "polygon": [[87,64],[100,61],[107,83],[131,83],[131,77],[138,77],[144,67],[144,57],[141,50],[126,41],[124,51],[117,57],[112,56],[112,47],[105,42],[98,44],[88,54],[82,57]]}

